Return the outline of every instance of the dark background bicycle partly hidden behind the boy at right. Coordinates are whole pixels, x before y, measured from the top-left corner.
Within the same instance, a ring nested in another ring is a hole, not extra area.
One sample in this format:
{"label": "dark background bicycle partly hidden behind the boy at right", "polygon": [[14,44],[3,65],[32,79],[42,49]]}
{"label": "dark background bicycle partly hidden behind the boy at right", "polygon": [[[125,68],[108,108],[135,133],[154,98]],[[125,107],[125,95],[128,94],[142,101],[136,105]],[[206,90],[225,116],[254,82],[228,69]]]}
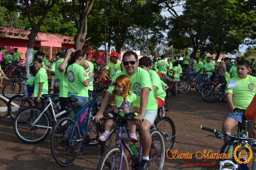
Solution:
{"label": "dark background bicycle partly hidden behind the boy at right", "polygon": [[222,89],[222,84],[206,84],[201,92],[201,98],[207,103],[216,101],[225,101],[225,91]]}

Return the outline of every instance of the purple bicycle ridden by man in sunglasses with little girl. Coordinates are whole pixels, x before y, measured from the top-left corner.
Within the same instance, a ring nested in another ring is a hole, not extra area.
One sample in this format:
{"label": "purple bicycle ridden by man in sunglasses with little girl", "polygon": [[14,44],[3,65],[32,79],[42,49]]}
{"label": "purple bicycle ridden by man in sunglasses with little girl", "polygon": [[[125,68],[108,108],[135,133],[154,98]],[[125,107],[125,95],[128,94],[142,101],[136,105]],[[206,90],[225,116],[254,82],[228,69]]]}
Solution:
{"label": "purple bicycle ridden by man in sunglasses with little girl", "polygon": [[[132,159],[132,169],[137,169],[142,160],[142,146],[140,145],[139,155],[130,149],[122,137],[122,133],[127,132],[128,137],[129,133],[126,126],[125,120],[135,120],[132,117],[123,118],[123,117],[102,117],[104,119],[113,119],[117,123],[117,126],[111,131],[110,136],[112,136],[116,130],[118,130],[118,135],[115,147],[109,148],[104,152],[98,163],[98,170],[101,169],[129,169],[128,160],[124,154],[124,148],[130,153]],[[126,129],[124,131],[123,129]],[[150,151],[150,167],[149,169],[162,169],[164,165],[164,141],[161,133],[157,131],[156,128],[151,129],[152,136],[152,145]],[[138,152],[138,151],[137,151]],[[157,160],[159,158],[159,160]]]}

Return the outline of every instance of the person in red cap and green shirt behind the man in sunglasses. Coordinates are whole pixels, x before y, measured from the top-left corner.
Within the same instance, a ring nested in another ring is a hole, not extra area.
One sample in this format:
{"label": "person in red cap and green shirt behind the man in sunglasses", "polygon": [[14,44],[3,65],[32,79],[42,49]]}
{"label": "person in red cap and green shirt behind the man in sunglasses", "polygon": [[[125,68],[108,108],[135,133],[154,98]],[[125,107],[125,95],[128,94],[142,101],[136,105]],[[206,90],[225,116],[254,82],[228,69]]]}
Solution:
{"label": "person in red cap and green shirt behind the man in sunglasses", "polygon": [[105,66],[105,68],[103,69],[100,78],[98,81],[96,81],[96,83],[99,83],[99,81],[101,80],[101,78],[103,77],[103,75],[105,75],[106,71],[109,70],[109,75],[110,75],[110,80],[113,79],[114,75],[117,72],[121,71],[121,61],[118,60],[118,56],[119,54],[117,52],[112,52],[111,54],[109,54],[110,56],[110,62],[108,63],[108,65]]}

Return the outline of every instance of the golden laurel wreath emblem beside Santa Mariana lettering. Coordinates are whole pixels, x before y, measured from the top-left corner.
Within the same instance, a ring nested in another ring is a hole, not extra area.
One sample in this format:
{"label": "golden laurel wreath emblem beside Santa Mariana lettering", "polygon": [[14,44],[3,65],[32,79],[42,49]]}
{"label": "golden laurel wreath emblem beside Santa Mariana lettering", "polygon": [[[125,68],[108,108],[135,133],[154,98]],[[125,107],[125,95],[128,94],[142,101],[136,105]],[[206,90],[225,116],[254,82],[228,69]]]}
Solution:
{"label": "golden laurel wreath emblem beside Santa Mariana lettering", "polygon": [[[245,145],[245,148],[247,148],[250,152],[250,155],[246,155],[246,150],[243,149],[240,154],[239,154],[239,157],[237,156],[237,151],[239,148],[241,148],[242,145],[238,145],[235,149],[234,149],[234,160],[236,160],[238,163],[249,163],[251,161],[251,159],[253,158],[253,152],[251,150],[251,148],[249,147],[249,145]],[[245,161],[241,161],[240,159],[244,159]]]}

